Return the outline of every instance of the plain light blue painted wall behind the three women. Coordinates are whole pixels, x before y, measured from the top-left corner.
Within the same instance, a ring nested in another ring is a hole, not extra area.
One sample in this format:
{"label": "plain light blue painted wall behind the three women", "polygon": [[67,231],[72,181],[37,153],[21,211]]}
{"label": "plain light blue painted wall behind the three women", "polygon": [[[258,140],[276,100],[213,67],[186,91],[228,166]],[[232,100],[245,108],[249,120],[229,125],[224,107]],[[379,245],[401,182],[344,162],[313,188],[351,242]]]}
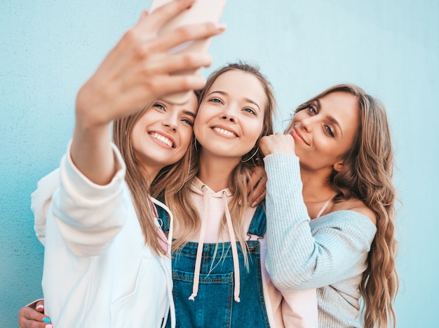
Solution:
{"label": "plain light blue painted wall behind the three women", "polygon": [[[0,322],[41,297],[43,248],[29,195],[58,166],[76,91],[150,1],[0,1]],[[438,327],[439,2],[229,0],[213,67],[256,62],[281,108],[335,83],[386,104],[403,206],[398,327]],[[211,69],[203,71],[205,75]]]}

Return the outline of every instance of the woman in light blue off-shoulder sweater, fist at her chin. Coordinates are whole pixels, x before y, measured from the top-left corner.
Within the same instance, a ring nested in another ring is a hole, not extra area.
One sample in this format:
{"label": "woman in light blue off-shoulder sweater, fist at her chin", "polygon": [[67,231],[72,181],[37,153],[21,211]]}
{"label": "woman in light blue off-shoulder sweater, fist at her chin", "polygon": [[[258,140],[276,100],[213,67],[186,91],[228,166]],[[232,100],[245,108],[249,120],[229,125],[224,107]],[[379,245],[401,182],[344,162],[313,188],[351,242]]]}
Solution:
{"label": "woman in light blue off-shoulder sweater, fist at her chin", "polygon": [[286,131],[259,144],[274,285],[318,288],[320,327],[394,327],[396,192],[384,106],[337,85],[299,106]]}

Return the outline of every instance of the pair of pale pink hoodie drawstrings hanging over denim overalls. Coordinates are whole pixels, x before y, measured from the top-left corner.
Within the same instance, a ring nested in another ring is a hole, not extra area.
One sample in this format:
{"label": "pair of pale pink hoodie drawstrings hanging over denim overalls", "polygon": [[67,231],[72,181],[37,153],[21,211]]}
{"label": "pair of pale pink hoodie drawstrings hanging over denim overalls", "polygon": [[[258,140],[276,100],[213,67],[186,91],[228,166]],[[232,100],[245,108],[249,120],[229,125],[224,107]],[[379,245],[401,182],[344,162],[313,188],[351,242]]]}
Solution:
{"label": "pair of pale pink hoodie drawstrings hanging over denim overalls", "polygon": [[[204,246],[204,237],[205,237],[205,229],[206,222],[208,220],[208,190],[203,185],[201,187],[203,190],[203,218],[201,220],[201,231],[200,238],[198,240],[198,248],[196,250],[196,260],[195,260],[195,269],[194,269],[194,284],[192,285],[192,294],[189,296],[191,301],[195,300],[196,295],[198,294],[198,285],[200,283],[200,269],[201,269],[201,257],[203,255],[203,246]],[[239,291],[240,291],[240,276],[239,276],[239,259],[238,259],[238,248],[236,248],[236,238],[233,224],[231,223],[231,215],[229,211],[229,204],[227,203],[227,190],[223,190],[221,192],[222,199],[224,200],[224,211],[226,213],[226,221],[227,221],[227,229],[229,230],[230,236],[230,245],[231,245],[231,253],[234,261],[234,280],[235,280],[235,289],[234,289],[234,299],[236,302],[241,301],[239,299]]]}

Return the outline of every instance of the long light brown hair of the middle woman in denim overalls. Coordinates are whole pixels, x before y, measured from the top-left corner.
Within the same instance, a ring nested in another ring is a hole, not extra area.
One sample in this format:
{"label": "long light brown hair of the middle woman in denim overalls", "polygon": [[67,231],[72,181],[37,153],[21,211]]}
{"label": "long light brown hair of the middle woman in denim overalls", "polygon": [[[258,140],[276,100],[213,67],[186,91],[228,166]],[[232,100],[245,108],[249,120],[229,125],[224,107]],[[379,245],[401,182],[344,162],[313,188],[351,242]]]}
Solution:
{"label": "long light brown hair of the middle woman in denim overalls", "polygon": [[[238,242],[241,244],[241,249],[245,255],[245,264],[247,264],[247,244],[245,243],[245,222],[243,220],[245,211],[247,210],[248,194],[247,194],[247,183],[250,180],[250,174],[252,168],[255,166],[263,165],[263,155],[262,152],[257,148],[259,144],[259,139],[262,136],[273,134],[273,114],[276,110],[276,99],[274,97],[271,84],[262,75],[257,66],[252,66],[250,64],[245,64],[243,62],[238,62],[234,64],[228,64],[227,66],[217,69],[212,74],[210,74],[207,83],[203,90],[198,94],[198,104],[201,104],[206,92],[210,89],[215,80],[227,71],[243,71],[245,73],[252,74],[261,83],[264,88],[266,95],[266,108],[264,108],[264,124],[262,127],[261,134],[255,143],[255,148],[250,150],[248,154],[243,156],[243,159],[250,158],[254,152],[256,155],[248,162],[240,162],[235,169],[232,171],[229,178],[229,190],[233,194],[231,201],[229,202],[229,211],[232,218],[232,223],[234,227],[234,233]],[[162,175],[156,179],[151,190],[154,196],[164,193],[166,204],[170,207],[173,212],[175,220],[179,222],[179,228],[181,230],[180,238],[177,238],[173,242],[173,251],[177,251],[183,245],[189,241],[191,236],[194,236],[201,227],[201,218],[198,214],[196,206],[194,206],[191,201],[191,182],[196,177],[199,170],[198,162],[198,152],[201,149],[201,145],[197,143],[195,138],[191,143],[192,147],[189,148],[187,154],[184,156],[184,163],[189,165],[181,166],[177,168],[174,166],[171,169],[162,170]],[[178,175],[175,174],[179,172]],[[223,218],[222,227],[226,227],[225,217]],[[225,228],[224,228],[225,229]],[[221,231],[220,231],[221,233]]]}

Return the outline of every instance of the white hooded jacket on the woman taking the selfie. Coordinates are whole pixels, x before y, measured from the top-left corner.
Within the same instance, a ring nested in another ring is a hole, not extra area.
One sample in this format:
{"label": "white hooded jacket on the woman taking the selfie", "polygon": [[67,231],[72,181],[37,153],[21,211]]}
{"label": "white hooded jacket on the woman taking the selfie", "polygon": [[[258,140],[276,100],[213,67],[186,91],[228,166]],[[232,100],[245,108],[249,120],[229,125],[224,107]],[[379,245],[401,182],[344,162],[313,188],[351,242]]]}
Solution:
{"label": "white hooded jacket on the woman taking the selfie", "polygon": [[115,146],[114,152],[121,169],[108,185],[83,176],[68,148],[59,172],[41,179],[32,194],[36,235],[45,244],[45,309],[54,327],[161,327],[169,309],[175,321],[170,247],[159,256],[144,245],[126,166]]}

